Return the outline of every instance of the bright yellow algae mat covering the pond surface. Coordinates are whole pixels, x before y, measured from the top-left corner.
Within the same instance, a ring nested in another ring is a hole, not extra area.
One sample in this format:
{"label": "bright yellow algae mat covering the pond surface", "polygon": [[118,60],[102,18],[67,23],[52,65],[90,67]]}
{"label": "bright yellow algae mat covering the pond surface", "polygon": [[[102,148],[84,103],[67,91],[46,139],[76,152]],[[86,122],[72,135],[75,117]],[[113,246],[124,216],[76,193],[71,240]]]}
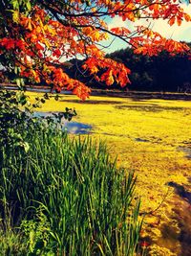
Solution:
{"label": "bright yellow algae mat covering the pond surface", "polygon": [[76,109],[75,122],[93,126],[90,136],[107,142],[118,166],[136,171],[149,255],[191,255],[191,102],[60,95],[39,110],[66,106]]}

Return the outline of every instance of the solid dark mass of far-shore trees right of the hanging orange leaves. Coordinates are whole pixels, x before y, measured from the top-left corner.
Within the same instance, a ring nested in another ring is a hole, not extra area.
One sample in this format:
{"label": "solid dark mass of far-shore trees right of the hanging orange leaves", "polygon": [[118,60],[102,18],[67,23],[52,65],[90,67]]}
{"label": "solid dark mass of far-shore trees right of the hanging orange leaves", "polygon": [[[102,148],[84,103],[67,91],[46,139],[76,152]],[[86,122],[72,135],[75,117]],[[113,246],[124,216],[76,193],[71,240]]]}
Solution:
{"label": "solid dark mass of far-shore trees right of the hanging orange leaves", "polygon": [[117,58],[132,70],[131,90],[178,91],[185,83],[191,84],[191,60],[186,55],[170,56],[162,52],[148,57],[135,55],[127,48],[111,54],[110,58]]}

